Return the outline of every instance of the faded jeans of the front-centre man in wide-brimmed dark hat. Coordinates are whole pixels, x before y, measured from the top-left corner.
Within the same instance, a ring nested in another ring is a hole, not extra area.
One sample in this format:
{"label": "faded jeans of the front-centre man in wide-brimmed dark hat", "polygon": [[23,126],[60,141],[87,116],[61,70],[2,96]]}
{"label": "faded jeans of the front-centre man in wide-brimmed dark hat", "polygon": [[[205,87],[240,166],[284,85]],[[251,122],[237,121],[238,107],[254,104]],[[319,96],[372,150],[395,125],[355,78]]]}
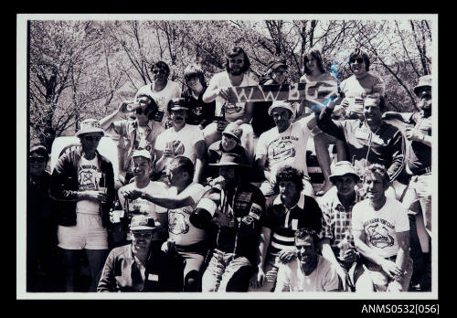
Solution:
{"label": "faded jeans of the front-centre man in wide-brimmed dark hat", "polygon": [[250,260],[215,249],[202,278],[202,292],[247,292],[253,267]]}

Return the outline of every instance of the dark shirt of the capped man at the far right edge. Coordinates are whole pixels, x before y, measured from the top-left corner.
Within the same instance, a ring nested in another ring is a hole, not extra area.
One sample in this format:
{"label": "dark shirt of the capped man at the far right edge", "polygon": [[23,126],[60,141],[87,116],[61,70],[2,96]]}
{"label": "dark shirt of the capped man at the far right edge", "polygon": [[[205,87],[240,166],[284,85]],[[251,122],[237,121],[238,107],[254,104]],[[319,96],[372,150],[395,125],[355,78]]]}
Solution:
{"label": "dark shirt of the capped man at the far right edge", "polygon": [[[411,115],[409,123],[414,123],[415,129],[419,132],[431,136],[431,117],[424,118],[420,112]],[[411,151],[409,153],[408,166],[414,174],[415,171],[424,169],[431,165],[431,147],[420,142],[411,142]]]}

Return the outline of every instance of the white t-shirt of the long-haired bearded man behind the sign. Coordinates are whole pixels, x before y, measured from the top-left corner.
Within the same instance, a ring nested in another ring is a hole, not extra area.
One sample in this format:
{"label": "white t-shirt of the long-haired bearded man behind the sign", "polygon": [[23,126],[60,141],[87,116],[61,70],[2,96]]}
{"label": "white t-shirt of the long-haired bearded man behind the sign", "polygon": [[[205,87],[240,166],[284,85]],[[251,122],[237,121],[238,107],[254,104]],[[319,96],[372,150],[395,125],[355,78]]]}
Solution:
{"label": "white t-shirt of the long-haired bearded man behind the sign", "polygon": [[[209,80],[209,85],[212,86],[214,85],[215,89],[218,88],[228,88],[228,87],[233,87],[231,84],[230,78],[228,77],[227,71],[220,72],[218,74],[215,74],[211,80]],[[244,73],[243,80],[241,81],[241,84],[239,84],[239,87],[242,86],[252,86],[252,85],[257,85],[257,82],[255,80],[250,79],[247,73]],[[220,109],[222,105],[226,100],[224,100],[222,97],[218,96],[216,97],[216,113],[220,112]],[[246,107],[246,102],[237,102],[235,104],[228,103],[226,105],[226,120],[228,122],[235,122],[239,118],[241,118],[244,115],[244,108]]]}

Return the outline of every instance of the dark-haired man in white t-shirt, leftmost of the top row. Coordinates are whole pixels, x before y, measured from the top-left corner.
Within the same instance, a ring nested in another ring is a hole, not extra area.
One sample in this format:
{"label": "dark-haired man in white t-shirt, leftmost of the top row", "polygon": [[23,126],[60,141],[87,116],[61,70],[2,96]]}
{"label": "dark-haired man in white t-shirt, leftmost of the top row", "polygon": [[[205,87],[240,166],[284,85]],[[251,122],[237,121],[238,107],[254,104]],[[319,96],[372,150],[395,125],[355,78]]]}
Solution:
{"label": "dark-haired man in white t-shirt, leftmost of the top row", "polygon": [[137,99],[140,95],[148,95],[157,103],[158,111],[155,121],[160,122],[162,127],[168,122],[169,113],[166,110],[168,101],[181,96],[181,87],[173,80],[168,80],[170,68],[164,61],[158,61],[151,67],[153,81],[151,84],[144,85],[135,95]]}

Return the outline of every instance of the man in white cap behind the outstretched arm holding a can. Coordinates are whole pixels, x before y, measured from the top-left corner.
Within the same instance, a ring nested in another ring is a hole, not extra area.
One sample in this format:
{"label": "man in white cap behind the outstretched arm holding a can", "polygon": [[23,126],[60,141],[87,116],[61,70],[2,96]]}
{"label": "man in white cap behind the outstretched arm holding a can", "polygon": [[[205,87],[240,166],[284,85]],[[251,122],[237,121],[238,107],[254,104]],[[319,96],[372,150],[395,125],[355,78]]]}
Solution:
{"label": "man in white cap behind the outstretched arm holding a can", "polygon": [[168,186],[163,182],[151,181],[149,178],[149,175],[153,172],[153,160],[151,154],[147,150],[137,150],[133,153],[132,168],[134,182],[122,186],[118,191],[122,208],[128,208],[130,210],[129,213],[132,213],[132,215],[153,217],[156,226],[157,222],[160,223],[155,231],[154,240],[165,241],[168,237],[166,229],[168,220],[166,208],[157,206],[141,197],[131,199],[126,198],[126,196],[132,191],[141,191],[142,193],[149,194],[166,194]]}

